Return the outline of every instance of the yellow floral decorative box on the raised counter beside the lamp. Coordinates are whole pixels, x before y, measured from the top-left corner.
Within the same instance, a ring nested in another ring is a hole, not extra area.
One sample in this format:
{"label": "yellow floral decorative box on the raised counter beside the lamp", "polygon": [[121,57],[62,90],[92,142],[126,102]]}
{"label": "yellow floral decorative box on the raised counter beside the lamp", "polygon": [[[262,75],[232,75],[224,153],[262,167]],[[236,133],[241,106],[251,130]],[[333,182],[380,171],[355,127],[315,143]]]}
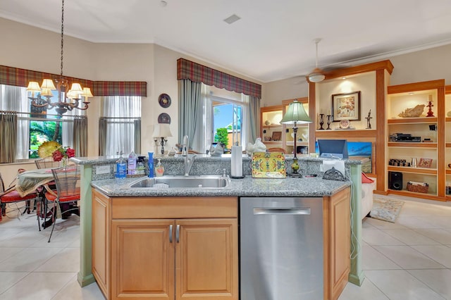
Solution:
{"label": "yellow floral decorative box on the raised counter beside the lamp", "polygon": [[251,164],[254,178],[283,178],[286,176],[283,152],[254,152]]}

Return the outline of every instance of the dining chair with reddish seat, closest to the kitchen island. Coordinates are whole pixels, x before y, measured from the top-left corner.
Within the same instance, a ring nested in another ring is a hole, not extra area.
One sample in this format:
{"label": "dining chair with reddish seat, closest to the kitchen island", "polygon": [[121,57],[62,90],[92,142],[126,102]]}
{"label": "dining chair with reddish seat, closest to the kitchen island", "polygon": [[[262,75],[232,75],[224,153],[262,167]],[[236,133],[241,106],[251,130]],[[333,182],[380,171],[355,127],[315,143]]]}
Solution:
{"label": "dining chair with reddish seat, closest to the kitchen island", "polygon": [[[53,208],[51,208],[51,220],[53,226],[49,236],[54,232],[56,217],[58,215],[58,208],[61,208],[62,218],[68,218],[72,213],[80,215],[77,201],[80,200],[80,165],[66,165],[60,168],[51,169],[51,173],[54,175],[56,184],[56,191],[47,189],[45,192],[45,204],[53,202]],[[46,209],[44,209],[46,211]],[[44,219],[47,215],[44,215]],[[44,222],[45,223],[45,222]]]}

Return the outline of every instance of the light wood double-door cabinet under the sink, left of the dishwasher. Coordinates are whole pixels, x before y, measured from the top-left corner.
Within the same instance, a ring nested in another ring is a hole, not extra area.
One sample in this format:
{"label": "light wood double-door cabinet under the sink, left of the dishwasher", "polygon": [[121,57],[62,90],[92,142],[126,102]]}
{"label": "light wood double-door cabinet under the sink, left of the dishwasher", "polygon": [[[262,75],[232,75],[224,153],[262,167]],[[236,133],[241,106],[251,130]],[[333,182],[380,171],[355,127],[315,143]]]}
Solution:
{"label": "light wood double-door cabinet under the sink, left of the dishwasher", "polygon": [[108,299],[238,299],[236,197],[93,198],[111,211],[108,246],[92,249],[111,268],[93,272]]}

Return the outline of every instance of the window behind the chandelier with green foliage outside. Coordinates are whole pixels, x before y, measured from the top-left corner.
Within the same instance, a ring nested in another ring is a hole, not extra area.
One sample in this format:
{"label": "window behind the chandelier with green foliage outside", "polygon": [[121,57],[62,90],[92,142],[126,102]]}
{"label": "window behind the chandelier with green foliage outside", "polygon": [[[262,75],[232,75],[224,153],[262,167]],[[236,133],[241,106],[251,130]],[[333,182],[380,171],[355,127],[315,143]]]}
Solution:
{"label": "window behind the chandelier with green foliage outside", "polygon": [[[58,101],[58,92],[52,91],[53,101]],[[57,118],[54,108],[36,108],[30,104],[25,87],[0,85],[0,110],[18,113],[18,139],[16,161],[37,158],[37,149],[46,141],[55,140],[63,146],[73,146],[73,119],[70,115],[83,115],[77,109]],[[34,96],[40,97],[40,94]]]}

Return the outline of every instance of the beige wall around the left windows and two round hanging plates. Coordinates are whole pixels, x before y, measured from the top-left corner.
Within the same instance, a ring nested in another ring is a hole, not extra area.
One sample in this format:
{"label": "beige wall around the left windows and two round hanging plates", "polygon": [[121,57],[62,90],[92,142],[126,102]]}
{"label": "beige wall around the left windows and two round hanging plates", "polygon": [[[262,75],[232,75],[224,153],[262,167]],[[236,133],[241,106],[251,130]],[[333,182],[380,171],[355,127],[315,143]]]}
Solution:
{"label": "beige wall around the left windows and two round hanging plates", "polygon": [[[49,32],[29,25],[0,18],[0,36],[5,41],[0,47],[0,65],[60,73],[60,42],[58,32]],[[177,59],[187,58],[230,75],[261,84],[252,78],[206,63],[156,44],[96,44],[81,39],[64,37],[64,75],[87,80],[146,81],[147,97],[142,99],[142,153],[155,151],[152,132],[160,113],[171,116],[168,146],[178,141],[178,84]],[[160,94],[171,96],[169,108],[158,104]],[[88,156],[97,156],[99,97],[89,99]],[[0,172],[16,174],[21,164],[0,165]],[[34,164],[24,165],[35,168]],[[6,170],[7,169],[7,170]],[[13,171],[13,172],[11,172]],[[11,177],[12,179],[13,177]],[[6,178],[6,182],[9,182]]]}

